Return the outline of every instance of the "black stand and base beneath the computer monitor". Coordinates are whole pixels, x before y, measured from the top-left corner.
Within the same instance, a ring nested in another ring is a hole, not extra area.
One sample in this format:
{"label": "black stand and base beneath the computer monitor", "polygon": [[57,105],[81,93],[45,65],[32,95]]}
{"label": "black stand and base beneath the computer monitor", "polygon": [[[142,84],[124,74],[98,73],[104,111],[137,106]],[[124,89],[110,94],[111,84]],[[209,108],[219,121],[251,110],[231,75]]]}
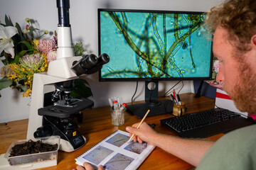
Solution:
{"label": "black stand and base beneath the computer monitor", "polygon": [[158,100],[158,81],[145,81],[145,103],[128,105],[127,108],[138,118],[143,118],[146,111],[149,116],[172,113],[174,103],[171,100]]}

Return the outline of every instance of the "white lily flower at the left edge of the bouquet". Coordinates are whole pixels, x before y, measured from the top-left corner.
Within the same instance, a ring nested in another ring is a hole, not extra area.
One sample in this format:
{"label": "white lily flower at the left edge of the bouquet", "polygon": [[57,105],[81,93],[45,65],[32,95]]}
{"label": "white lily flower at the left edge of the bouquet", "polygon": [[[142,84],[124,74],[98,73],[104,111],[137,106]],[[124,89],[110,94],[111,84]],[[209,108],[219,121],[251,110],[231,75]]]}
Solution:
{"label": "white lily flower at the left edge of the bouquet", "polygon": [[18,33],[17,28],[0,25],[0,53],[4,51],[11,54],[11,58],[14,58],[14,41],[11,38],[16,35],[16,33]]}

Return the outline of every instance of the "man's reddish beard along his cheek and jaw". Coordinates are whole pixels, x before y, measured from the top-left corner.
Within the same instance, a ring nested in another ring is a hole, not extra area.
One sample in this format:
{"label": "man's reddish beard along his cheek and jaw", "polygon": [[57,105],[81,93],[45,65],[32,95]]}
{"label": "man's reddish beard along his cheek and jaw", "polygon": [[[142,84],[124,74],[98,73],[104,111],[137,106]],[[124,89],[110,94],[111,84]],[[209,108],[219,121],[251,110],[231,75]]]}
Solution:
{"label": "man's reddish beard along his cheek and jaw", "polygon": [[252,72],[250,64],[246,61],[240,62],[238,70],[238,79],[234,80],[235,86],[227,91],[227,93],[239,111],[256,115],[256,74]]}

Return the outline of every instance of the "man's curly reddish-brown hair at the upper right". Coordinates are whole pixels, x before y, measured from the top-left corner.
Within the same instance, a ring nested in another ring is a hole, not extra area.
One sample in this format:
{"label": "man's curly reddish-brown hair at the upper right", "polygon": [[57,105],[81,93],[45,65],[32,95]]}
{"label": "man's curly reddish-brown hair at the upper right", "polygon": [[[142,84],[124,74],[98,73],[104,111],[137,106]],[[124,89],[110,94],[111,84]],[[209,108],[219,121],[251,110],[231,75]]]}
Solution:
{"label": "man's curly reddish-brown hair at the upper right", "polygon": [[218,26],[228,30],[228,38],[240,51],[250,50],[248,44],[256,35],[256,1],[228,0],[210,9],[206,25],[211,33]]}

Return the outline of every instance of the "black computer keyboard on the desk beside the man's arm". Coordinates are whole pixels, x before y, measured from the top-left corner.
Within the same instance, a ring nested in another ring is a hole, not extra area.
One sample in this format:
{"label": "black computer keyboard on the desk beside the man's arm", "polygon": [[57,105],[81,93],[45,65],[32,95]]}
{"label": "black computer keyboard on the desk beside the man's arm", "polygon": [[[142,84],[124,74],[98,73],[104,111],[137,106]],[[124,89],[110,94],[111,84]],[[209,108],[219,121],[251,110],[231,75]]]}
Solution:
{"label": "black computer keyboard on the desk beside the man's arm", "polygon": [[181,117],[163,119],[160,122],[180,137],[199,138],[230,132],[255,123],[252,118],[243,118],[238,113],[224,108],[188,113]]}

